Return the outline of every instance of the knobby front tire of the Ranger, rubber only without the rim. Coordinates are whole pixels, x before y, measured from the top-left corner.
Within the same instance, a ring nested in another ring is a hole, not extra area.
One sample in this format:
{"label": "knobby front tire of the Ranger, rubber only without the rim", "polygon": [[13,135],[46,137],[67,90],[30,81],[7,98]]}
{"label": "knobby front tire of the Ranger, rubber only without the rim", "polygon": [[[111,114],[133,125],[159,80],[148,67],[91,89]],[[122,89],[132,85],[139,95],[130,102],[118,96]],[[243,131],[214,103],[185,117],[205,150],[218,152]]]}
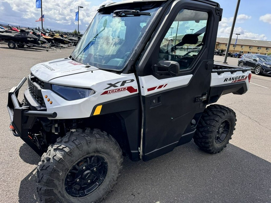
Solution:
{"label": "knobby front tire of the Ranger, rubber only without the rim", "polygon": [[[90,155],[103,157],[108,164],[107,174],[97,189],[90,194],[76,198],[64,187],[66,175],[78,161]],[[37,192],[45,203],[95,203],[105,199],[113,191],[120,176],[123,155],[117,141],[98,129],[69,132],[58,138],[42,155],[36,172]]]}

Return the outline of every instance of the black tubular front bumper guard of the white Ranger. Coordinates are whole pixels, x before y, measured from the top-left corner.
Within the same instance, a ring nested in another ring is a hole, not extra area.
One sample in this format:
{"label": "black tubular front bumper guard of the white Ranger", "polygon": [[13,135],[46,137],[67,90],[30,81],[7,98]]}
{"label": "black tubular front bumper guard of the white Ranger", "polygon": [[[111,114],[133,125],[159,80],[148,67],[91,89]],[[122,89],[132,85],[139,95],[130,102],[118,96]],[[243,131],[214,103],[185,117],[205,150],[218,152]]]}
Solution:
{"label": "black tubular front bumper guard of the white Ranger", "polygon": [[12,133],[14,136],[20,137],[27,143],[35,152],[40,154],[40,149],[28,137],[28,130],[33,127],[37,118],[56,118],[56,112],[47,111],[32,111],[29,106],[23,106],[18,100],[18,93],[20,88],[26,82],[27,78],[24,77],[17,87],[11,88],[8,92],[8,113],[11,120],[11,125],[14,128]]}

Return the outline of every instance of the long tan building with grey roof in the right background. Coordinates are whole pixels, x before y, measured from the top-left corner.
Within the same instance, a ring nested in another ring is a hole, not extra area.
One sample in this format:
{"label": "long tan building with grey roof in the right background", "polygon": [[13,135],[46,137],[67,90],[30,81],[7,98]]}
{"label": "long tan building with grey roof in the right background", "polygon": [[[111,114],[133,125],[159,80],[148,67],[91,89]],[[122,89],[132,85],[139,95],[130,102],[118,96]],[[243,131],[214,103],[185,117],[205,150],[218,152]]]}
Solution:
{"label": "long tan building with grey roof in the right background", "polygon": [[[216,38],[216,48],[218,50],[226,51],[228,38]],[[230,44],[229,51],[238,52],[241,54],[263,54],[268,55],[271,53],[271,41],[261,41],[252,39],[238,39],[233,38]]]}

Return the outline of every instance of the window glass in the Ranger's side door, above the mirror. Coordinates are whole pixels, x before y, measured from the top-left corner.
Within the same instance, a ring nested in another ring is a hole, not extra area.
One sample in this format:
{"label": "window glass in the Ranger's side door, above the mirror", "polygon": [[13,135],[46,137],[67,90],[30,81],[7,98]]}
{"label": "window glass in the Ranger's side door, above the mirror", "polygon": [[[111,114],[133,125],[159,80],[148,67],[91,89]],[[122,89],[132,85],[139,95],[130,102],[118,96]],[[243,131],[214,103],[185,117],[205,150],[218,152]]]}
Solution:
{"label": "window glass in the Ranger's side door, above the mirror", "polygon": [[204,45],[208,14],[182,9],[160,44],[158,61],[176,61],[189,69]]}

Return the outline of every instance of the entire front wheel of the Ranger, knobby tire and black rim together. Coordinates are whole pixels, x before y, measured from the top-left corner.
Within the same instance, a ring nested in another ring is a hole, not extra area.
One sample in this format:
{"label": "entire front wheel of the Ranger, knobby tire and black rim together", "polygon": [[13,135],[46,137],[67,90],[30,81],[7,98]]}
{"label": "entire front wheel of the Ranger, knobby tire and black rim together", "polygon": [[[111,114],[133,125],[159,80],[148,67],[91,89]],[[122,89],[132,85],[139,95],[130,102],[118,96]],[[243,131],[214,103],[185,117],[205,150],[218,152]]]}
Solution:
{"label": "entire front wheel of the Ranger, knobby tire and black rim together", "polygon": [[[95,165],[95,160],[96,164],[100,163],[97,159],[101,159],[101,164],[106,166],[101,167],[100,164],[92,167]],[[85,131],[69,132],[66,136],[58,138],[57,142],[49,146],[48,151],[42,155],[36,172],[39,198],[46,203],[100,202],[117,184],[122,164],[122,151],[111,135],[89,128]],[[94,180],[84,179],[91,176]],[[95,179],[96,177],[98,179]],[[73,179],[75,181],[72,181]],[[75,183],[77,181],[78,185]],[[85,187],[84,185],[88,184],[86,181],[91,181],[89,184],[93,181],[93,187],[92,185],[90,188]],[[89,192],[91,190],[92,192]]]}

